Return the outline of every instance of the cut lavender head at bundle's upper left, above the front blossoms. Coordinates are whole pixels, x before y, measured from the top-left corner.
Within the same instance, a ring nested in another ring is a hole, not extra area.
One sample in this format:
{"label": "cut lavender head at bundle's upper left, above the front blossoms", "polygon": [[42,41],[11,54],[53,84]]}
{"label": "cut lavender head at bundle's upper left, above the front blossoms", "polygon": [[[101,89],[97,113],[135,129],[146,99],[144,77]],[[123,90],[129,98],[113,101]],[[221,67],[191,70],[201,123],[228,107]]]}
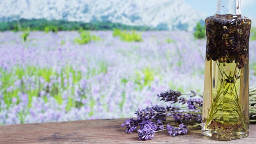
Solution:
{"label": "cut lavender head at bundle's upper left, above the front blossoms", "polygon": [[149,120],[154,118],[157,114],[156,110],[153,108],[146,108],[146,109],[138,109],[135,114],[138,116],[138,120]]}

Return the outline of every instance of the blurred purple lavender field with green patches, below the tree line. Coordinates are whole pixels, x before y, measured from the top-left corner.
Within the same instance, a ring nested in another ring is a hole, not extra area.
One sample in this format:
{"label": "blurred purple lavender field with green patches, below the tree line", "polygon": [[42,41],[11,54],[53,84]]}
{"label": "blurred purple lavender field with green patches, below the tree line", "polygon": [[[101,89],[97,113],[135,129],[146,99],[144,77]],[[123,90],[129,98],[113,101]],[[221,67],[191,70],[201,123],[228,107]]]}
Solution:
{"label": "blurred purple lavender field with green patches, below the tree line", "polygon": [[[173,89],[202,92],[206,40],[192,32],[141,32],[124,42],[112,31],[74,44],[78,32],[0,33],[0,124],[134,116]],[[256,87],[256,41],[250,42],[250,87]]]}

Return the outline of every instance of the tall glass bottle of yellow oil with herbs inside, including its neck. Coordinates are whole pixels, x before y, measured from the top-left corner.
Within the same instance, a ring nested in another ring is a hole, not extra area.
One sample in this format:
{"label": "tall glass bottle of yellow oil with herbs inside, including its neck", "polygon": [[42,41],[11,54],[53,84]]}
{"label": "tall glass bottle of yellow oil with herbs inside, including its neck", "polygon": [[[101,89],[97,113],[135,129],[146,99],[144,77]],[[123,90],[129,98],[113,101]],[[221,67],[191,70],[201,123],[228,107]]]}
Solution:
{"label": "tall glass bottle of yellow oil with herbs inside, including its neck", "polygon": [[246,137],[251,20],[241,15],[241,0],[218,0],[216,14],[205,22],[202,134],[217,140]]}

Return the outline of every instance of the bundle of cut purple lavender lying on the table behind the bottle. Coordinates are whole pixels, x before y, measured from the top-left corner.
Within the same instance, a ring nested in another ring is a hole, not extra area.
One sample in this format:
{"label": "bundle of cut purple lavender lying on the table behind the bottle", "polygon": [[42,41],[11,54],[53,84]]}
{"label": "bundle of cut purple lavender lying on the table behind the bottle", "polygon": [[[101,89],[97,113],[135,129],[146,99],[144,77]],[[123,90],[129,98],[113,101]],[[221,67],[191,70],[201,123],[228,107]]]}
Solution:
{"label": "bundle of cut purple lavender lying on the table behind the bottle", "polygon": [[[188,130],[200,129],[202,119],[202,95],[194,91],[190,94],[181,94],[179,91],[168,90],[157,96],[160,101],[168,102],[170,106],[151,106],[138,109],[137,119],[129,118],[122,124],[127,133],[138,132],[139,140],[149,140],[155,132],[168,131],[171,136],[187,134]],[[189,95],[189,99],[182,97]],[[200,98],[194,98],[194,96]],[[256,122],[256,88],[249,90],[250,123]],[[175,103],[181,106],[174,106]]]}

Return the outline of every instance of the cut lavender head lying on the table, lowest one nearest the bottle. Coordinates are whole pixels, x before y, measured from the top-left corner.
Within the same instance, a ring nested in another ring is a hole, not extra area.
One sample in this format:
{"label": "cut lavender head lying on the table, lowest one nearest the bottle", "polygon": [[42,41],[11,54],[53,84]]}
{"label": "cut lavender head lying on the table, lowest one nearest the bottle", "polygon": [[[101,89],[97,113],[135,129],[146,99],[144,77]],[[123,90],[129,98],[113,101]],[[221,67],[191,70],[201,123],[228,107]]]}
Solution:
{"label": "cut lavender head lying on the table, lowest one nearest the bottle", "polygon": [[170,126],[169,124],[167,124],[166,128],[171,136],[188,133],[188,126],[184,125],[183,123],[180,124],[178,127]]}

